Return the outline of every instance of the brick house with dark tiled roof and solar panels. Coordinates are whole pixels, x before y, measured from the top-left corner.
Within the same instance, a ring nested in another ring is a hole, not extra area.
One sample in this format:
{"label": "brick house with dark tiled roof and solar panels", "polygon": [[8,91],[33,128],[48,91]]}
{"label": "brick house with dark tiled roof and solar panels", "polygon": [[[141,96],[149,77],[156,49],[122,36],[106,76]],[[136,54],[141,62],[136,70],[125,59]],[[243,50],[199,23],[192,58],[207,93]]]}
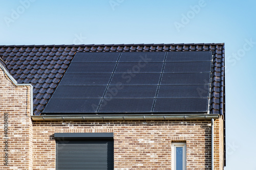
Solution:
{"label": "brick house with dark tiled roof and solar panels", "polygon": [[0,46],[1,169],[223,169],[224,44]]}

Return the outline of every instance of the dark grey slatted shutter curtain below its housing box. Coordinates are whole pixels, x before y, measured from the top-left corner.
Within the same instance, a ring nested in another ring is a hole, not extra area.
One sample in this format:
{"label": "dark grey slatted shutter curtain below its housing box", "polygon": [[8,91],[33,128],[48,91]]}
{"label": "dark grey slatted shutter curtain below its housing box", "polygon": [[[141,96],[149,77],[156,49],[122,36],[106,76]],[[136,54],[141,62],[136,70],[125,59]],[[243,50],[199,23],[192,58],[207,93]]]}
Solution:
{"label": "dark grey slatted shutter curtain below its housing box", "polygon": [[56,169],[114,169],[114,142],[56,140]]}

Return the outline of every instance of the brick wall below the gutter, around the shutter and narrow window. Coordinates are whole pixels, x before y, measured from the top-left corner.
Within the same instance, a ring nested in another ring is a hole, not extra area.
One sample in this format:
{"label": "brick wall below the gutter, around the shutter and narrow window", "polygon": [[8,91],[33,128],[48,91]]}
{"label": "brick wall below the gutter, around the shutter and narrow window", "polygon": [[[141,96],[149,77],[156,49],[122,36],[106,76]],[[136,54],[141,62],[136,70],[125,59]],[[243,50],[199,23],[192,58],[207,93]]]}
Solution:
{"label": "brick wall below the gutter, around the shutter and narrow window", "polygon": [[[215,169],[222,169],[220,120],[215,126]],[[186,141],[188,170],[211,169],[211,122],[170,120],[34,122],[33,169],[55,169],[54,133],[84,132],[114,133],[116,170],[171,169],[172,141]]]}

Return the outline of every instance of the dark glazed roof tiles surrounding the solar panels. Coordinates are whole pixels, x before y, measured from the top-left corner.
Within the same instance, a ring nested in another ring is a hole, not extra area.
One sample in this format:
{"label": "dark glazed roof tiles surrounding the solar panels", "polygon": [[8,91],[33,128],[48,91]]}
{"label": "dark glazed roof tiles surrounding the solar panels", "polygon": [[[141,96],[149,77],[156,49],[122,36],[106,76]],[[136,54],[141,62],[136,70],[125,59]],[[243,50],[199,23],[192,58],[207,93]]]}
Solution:
{"label": "dark glazed roof tiles surrounding the solar panels", "polygon": [[[33,85],[34,115],[40,115],[76,52],[211,51],[212,80],[209,110],[225,112],[224,44],[110,44],[110,45],[2,45],[0,57],[18,83]],[[203,91],[202,91],[203,92]]]}

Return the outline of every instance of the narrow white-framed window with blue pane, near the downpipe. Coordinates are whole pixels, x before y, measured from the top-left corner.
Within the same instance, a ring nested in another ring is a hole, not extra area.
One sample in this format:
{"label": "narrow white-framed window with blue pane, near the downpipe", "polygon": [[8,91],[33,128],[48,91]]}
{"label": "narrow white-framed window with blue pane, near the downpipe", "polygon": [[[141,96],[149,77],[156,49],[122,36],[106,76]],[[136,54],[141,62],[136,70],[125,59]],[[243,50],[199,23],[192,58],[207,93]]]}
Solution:
{"label": "narrow white-framed window with blue pane, near the downpipe", "polygon": [[174,170],[186,170],[186,143],[172,143],[172,165]]}

